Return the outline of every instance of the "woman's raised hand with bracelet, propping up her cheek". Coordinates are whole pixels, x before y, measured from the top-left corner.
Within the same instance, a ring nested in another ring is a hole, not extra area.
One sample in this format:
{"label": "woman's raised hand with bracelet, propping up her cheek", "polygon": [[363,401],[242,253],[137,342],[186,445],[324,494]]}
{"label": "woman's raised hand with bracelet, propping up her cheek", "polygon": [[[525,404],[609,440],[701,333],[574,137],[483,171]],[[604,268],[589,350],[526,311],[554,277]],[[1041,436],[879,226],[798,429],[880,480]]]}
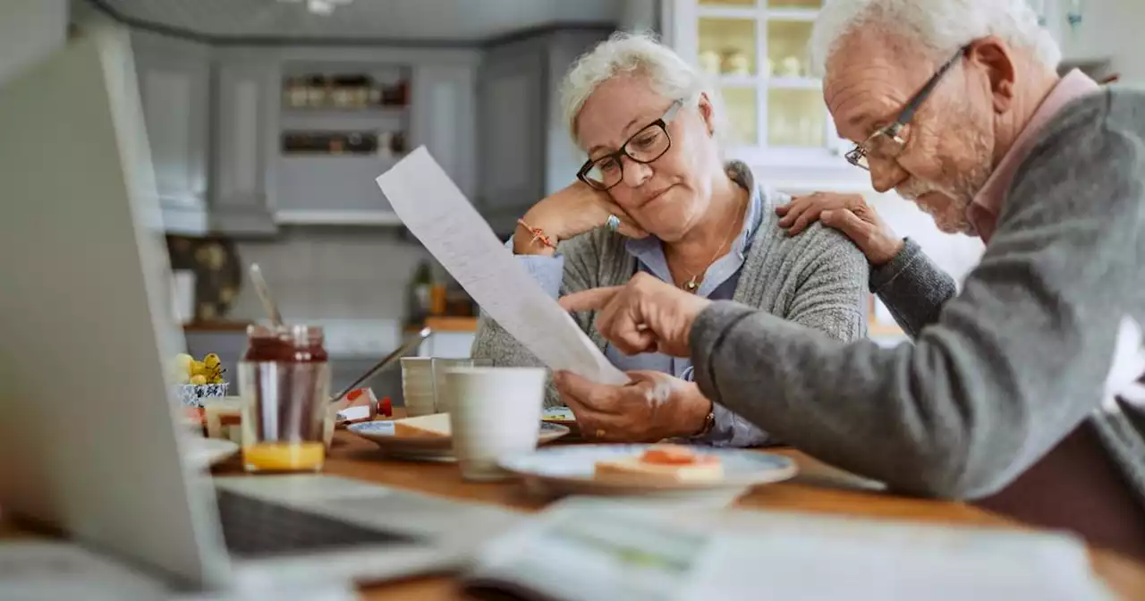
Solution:
{"label": "woman's raised hand with bracelet, propping up her cheek", "polygon": [[[621,220],[619,232],[630,238],[643,238],[648,232],[640,229],[607,192],[595,190],[589,184],[577,181],[571,185],[546,197],[521,218],[530,228],[540,229],[552,238],[553,244],[579,236],[599,228],[608,221],[608,215]],[[552,247],[532,242],[524,235],[524,228],[518,227],[513,238],[513,252],[516,254],[553,254]]]}

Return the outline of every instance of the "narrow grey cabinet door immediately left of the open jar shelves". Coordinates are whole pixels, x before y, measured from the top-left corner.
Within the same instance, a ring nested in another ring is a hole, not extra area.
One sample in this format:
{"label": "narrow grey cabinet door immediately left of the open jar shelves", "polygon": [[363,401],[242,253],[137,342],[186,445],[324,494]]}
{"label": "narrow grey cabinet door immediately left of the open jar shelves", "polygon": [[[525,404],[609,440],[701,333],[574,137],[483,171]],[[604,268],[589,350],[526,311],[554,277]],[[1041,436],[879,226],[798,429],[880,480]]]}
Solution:
{"label": "narrow grey cabinet door immediately left of the open jar shelves", "polygon": [[278,64],[221,53],[214,81],[211,229],[273,234]]}

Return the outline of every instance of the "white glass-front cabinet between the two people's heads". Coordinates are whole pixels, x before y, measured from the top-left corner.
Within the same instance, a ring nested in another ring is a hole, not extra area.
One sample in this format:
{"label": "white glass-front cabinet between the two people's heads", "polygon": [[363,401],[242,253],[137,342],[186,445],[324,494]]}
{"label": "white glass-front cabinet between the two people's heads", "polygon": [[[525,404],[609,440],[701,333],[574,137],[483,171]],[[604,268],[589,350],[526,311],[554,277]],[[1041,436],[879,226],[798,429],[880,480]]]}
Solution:
{"label": "white glass-front cabinet between the two people's heads", "polygon": [[728,156],[785,190],[866,189],[807,62],[822,0],[672,0],[672,45],[717,82]]}

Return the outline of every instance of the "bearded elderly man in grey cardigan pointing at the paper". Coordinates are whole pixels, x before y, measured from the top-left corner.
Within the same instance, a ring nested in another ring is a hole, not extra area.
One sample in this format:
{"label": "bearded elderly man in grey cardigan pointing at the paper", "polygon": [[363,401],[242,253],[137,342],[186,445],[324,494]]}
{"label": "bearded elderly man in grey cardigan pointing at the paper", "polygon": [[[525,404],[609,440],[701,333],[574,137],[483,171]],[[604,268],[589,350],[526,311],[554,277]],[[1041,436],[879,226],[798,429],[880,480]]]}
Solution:
{"label": "bearded elderly man in grey cardigan pointing at the paper", "polygon": [[[986,242],[956,294],[854,199],[787,209],[852,234],[915,343],[844,343],[640,276],[562,303],[622,350],[689,356],[713,403],[823,460],[1145,556],[1145,419],[1116,397],[1145,370],[1145,95],[1059,78],[1025,0],[828,1],[813,46],[848,160]],[[586,432],[615,411],[574,409]]]}

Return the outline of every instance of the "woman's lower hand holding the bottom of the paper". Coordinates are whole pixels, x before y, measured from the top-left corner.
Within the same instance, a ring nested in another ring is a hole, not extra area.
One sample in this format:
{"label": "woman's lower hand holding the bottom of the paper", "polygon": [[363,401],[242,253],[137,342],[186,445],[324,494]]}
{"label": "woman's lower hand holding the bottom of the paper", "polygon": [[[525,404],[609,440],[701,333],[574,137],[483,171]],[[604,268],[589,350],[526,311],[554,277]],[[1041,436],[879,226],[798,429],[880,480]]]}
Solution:
{"label": "woman's lower hand holding the bottom of the paper", "polygon": [[629,377],[632,382],[611,386],[561,371],[553,382],[586,438],[657,442],[703,429],[712,403],[698,386],[657,371],[632,371]]}

